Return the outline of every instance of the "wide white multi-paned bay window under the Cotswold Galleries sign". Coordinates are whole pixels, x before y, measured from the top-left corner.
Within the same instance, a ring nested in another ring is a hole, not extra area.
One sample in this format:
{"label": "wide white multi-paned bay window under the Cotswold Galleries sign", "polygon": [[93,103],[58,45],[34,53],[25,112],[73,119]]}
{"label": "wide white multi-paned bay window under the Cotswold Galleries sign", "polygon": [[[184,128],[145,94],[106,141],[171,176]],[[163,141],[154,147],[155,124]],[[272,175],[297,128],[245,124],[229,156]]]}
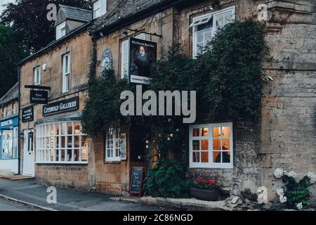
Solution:
{"label": "wide white multi-paned bay window under the Cotswold Galleries sign", "polygon": [[36,127],[37,163],[87,163],[88,137],[79,122]]}

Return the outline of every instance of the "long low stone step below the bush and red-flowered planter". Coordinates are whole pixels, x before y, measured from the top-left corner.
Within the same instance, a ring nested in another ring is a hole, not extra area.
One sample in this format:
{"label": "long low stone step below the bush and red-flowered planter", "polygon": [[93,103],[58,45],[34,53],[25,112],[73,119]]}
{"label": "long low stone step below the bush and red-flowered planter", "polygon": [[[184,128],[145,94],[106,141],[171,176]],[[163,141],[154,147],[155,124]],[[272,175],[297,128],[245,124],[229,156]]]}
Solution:
{"label": "long low stone step below the bush and red-flowered planter", "polygon": [[175,208],[178,210],[199,210],[199,211],[232,211],[232,208],[225,206],[225,201],[203,201],[195,198],[153,198],[121,196],[110,198],[111,200],[136,203],[142,205],[159,206],[165,208]]}

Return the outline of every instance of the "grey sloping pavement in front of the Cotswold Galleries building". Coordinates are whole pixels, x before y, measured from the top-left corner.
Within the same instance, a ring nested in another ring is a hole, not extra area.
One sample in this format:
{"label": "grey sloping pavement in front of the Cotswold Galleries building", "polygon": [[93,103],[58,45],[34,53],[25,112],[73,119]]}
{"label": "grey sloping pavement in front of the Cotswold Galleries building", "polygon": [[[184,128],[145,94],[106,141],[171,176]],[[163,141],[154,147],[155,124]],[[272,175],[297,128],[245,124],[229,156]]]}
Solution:
{"label": "grey sloping pavement in front of the Cotswold Galleries building", "polygon": [[[22,205],[41,210],[58,211],[162,211],[165,207],[147,206],[135,203],[113,201],[115,197],[105,193],[77,191],[57,188],[57,203],[47,203],[47,188],[35,184],[35,179],[11,180],[0,178],[0,200],[11,199],[11,202],[1,200],[0,211],[6,209],[27,210]],[[12,203],[22,205],[12,205]]]}

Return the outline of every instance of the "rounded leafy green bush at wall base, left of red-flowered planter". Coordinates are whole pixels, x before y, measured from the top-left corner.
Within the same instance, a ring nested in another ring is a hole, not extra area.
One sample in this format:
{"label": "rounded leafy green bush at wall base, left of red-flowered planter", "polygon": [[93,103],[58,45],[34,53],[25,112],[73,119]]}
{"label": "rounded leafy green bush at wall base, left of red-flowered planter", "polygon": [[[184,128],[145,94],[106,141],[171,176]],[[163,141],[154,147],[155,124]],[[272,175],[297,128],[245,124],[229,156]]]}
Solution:
{"label": "rounded leafy green bush at wall base, left of red-flowered planter", "polygon": [[145,195],[162,198],[188,198],[185,167],[176,160],[159,160],[149,169],[143,186]]}

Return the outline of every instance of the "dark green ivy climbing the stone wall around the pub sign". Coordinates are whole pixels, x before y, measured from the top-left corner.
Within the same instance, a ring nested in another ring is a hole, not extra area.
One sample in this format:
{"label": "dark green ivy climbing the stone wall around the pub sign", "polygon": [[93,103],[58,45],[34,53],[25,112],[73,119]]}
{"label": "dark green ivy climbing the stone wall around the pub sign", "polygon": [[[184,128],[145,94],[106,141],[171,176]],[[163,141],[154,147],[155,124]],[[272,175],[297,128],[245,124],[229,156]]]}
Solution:
{"label": "dark green ivy climbing the stone wall around the pub sign", "polygon": [[[268,56],[265,27],[251,20],[230,23],[216,32],[205,53],[187,57],[179,46],[158,60],[150,72],[153,91],[197,91],[197,113],[210,120],[251,120],[261,117],[262,63]],[[96,78],[96,46],[86,108],[81,120],[88,134],[96,135],[117,122],[143,124],[148,132],[147,148],[170,158],[183,155],[185,124],[182,117],[122,117],[119,108],[121,91],[134,91],[135,85],[115,79],[107,71],[105,79]],[[145,86],[143,87],[145,89]],[[143,90],[145,91],[145,90]],[[174,154],[176,152],[176,154]]]}

